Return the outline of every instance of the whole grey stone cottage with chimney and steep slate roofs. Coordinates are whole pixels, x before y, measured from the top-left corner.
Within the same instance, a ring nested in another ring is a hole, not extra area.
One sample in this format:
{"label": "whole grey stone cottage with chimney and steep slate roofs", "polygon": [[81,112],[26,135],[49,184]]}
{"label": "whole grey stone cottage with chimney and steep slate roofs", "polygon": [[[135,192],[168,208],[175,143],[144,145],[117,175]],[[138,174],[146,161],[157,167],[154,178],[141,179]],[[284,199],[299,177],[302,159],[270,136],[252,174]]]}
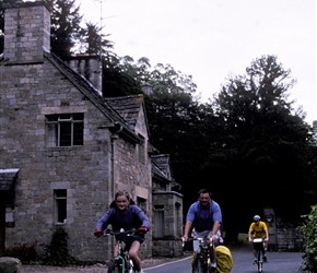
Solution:
{"label": "whole grey stone cottage with chimney and steep slate roofs", "polygon": [[71,254],[109,259],[113,239],[96,240],[93,230],[126,189],[152,224],[143,258],[180,256],[183,197],[172,190],[168,156],[149,143],[143,96],[104,98],[50,54],[45,1],[5,3],[4,22],[0,252],[25,242],[42,249],[63,227]]}

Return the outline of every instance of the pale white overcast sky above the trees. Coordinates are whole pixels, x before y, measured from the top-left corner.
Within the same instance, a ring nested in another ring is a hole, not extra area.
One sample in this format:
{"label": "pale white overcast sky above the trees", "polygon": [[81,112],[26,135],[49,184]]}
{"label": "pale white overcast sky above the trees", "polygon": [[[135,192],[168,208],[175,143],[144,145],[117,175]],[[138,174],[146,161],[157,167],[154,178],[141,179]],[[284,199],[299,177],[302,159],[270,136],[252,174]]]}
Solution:
{"label": "pale white overcast sky above the trees", "polygon": [[114,51],[192,75],[201,102],[251,61],[274,55],[297,84],[290,99],[317,120],[316,0],[77,0]]}

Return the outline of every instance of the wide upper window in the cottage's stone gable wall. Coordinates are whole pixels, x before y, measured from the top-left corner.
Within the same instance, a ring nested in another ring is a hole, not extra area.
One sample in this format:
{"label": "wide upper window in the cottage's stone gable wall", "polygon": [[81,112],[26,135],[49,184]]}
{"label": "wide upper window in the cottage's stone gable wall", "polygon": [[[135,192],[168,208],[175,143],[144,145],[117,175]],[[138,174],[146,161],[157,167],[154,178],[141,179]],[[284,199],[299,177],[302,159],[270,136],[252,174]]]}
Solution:
{"label": "wide upper window in the cottage's stone gable wall", "polygon": [[46,116],[46,134],[49,147],[83,145],[83,114]]}

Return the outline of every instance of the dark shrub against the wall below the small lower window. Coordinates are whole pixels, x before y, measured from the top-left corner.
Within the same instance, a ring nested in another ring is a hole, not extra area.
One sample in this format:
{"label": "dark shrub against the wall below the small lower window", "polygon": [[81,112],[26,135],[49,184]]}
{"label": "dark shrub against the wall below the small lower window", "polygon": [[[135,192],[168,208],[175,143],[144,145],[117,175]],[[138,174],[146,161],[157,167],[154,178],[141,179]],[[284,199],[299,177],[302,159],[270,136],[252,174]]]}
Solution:
{"label": "dark shrub against the wall below the small lower window", "polygon": [[54,232],[50,245],[46,248],[42,263],[57,266],[78,263],[78,260],[68,251],[68,234],[62,227]]}

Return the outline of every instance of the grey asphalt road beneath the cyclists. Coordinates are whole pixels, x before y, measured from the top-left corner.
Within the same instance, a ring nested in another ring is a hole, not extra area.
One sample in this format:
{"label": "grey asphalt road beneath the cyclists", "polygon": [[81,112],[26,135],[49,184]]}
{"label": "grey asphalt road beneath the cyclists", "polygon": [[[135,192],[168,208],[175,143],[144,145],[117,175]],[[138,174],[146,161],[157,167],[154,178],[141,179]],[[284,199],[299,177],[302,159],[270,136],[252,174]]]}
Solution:
{"label": "grey asphalt road beneath the cyclists", "polygon": [[[232,249],[234,265],[231,273],[256,273],[257,266],[253,264],[251,247]],[[268,252],[268,262],[263,264],[263,273],[300,273],[303,253],[301,252]],[[191,273],[191,258],[187,257],[177,262],[169,262],[144,271],[146,273]]]}

